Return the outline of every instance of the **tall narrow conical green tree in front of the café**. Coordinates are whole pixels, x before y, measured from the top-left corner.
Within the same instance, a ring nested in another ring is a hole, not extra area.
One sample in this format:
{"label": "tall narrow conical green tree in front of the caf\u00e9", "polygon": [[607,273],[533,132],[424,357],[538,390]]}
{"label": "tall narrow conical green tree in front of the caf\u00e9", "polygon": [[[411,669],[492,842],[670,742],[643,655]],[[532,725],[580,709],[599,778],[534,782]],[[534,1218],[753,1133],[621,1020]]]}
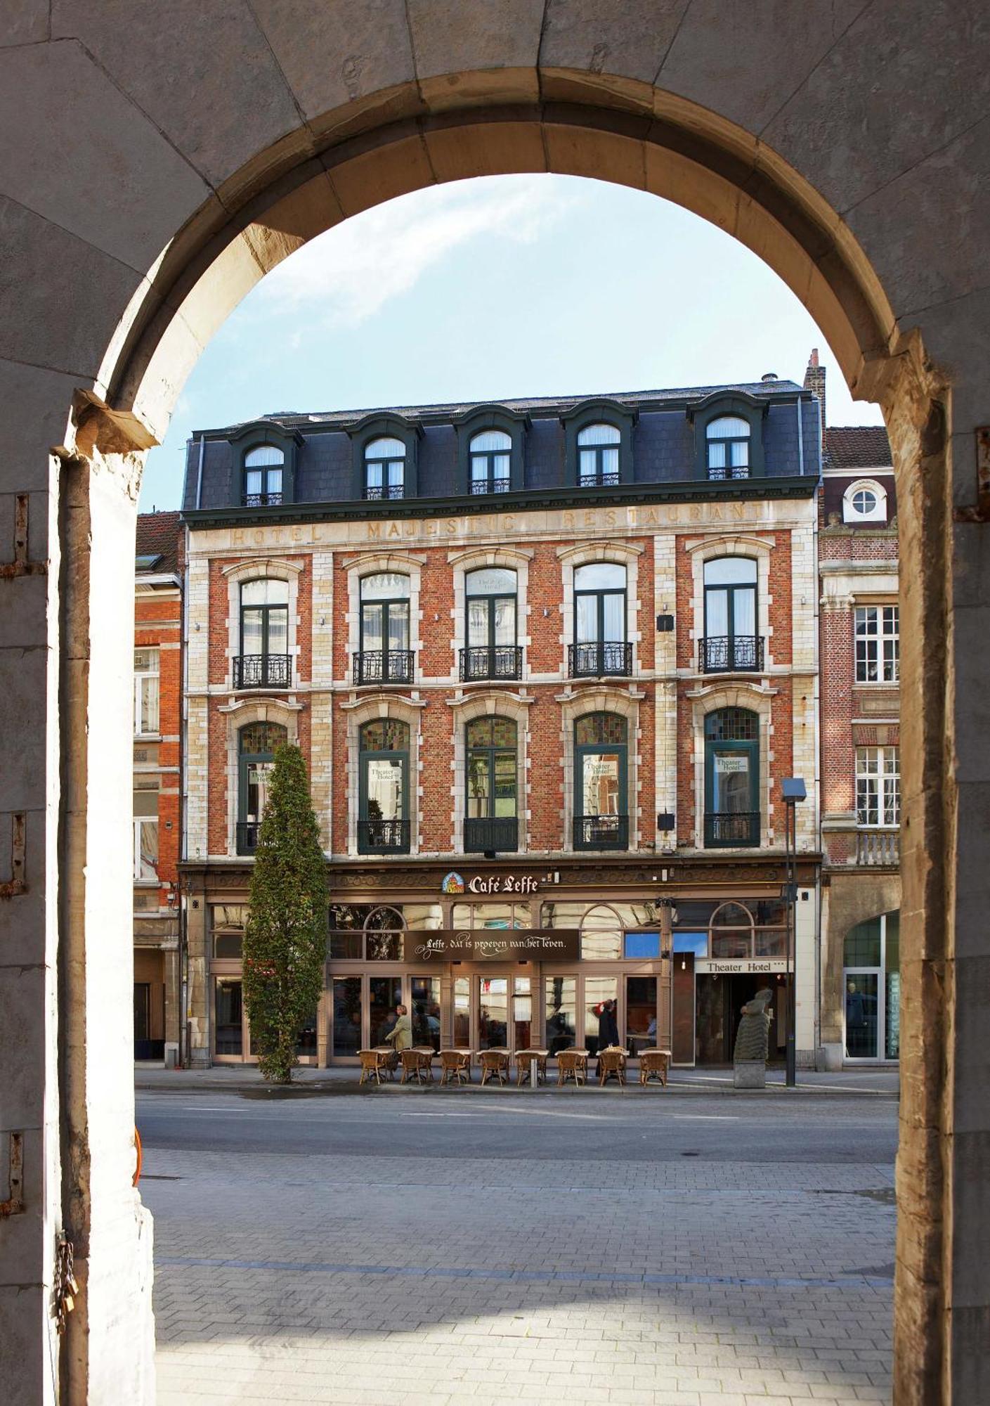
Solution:
{"label": "tall narrow conical green tree in front of the caf\u00e9", "polygon": [[243,983],[257,1064],[288,1084],[295,1045],[316,1010],[326,959],[326,863],[298,747],[274,754],[250,879]]}

